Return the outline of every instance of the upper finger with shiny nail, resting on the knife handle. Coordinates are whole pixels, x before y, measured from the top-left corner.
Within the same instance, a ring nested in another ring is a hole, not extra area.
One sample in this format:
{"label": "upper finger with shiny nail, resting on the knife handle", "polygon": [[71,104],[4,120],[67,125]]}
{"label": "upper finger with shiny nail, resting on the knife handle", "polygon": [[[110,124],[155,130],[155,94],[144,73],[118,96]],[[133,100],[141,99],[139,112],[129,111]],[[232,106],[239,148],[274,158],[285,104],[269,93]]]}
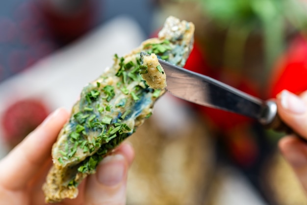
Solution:
{"label": "upper finger with shiny nail, resting on the knife handle", "polygon": [[277,108],[281,119],[295,133],[307,139],[307,94],[297,96],[287,90],[277,96]]}

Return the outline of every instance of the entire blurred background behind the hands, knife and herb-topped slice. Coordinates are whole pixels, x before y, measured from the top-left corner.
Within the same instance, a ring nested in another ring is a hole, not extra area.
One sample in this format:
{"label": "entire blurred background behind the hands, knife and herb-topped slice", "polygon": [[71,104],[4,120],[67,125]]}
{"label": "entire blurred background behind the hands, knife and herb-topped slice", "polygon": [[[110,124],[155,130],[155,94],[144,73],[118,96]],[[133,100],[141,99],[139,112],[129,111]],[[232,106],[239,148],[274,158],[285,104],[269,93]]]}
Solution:
{"label": "entire blurred background behind the hands, knife and herb-topped slice", "polygon": [[[185,68],[261,99],[307,89],[305,0],[1,1],[0,157],[170,15],[196,26]],[[166,94],[129,139],[128,205],[307,205],[281,136]]]}

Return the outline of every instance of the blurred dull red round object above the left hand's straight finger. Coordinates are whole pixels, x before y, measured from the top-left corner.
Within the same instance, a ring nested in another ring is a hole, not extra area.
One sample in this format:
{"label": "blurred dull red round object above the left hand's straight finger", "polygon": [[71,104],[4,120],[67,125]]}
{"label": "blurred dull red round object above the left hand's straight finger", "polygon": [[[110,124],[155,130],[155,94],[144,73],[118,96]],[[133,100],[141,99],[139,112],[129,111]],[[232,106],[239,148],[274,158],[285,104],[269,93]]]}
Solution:
{"label": "blurred dull red round object above the left hand's straight finger", "polygon": [[4,141],[14,147],[48,116],[46,106],[37,99],[17,101],[7,108],[1,118]]}

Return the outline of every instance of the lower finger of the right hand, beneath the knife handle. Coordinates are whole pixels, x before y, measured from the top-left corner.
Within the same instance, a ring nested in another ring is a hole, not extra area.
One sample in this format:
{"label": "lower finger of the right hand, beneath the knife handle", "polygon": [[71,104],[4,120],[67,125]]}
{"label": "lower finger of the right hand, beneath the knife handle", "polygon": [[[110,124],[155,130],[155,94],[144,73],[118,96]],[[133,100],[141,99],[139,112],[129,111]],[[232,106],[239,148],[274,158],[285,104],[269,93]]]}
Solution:
{"label": "lower finger of the right hand, beneath the knife handle", "polygon": [[307,144],[296,136],[281,139],[279,147],[307,192]]}

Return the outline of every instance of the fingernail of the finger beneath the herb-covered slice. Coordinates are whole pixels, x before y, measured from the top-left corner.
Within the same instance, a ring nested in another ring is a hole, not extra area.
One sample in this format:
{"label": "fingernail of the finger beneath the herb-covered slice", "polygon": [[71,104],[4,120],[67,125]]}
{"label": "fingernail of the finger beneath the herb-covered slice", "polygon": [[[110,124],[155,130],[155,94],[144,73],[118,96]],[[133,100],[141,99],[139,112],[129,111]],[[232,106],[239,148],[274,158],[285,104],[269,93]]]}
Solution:
{"label": "fingernail of the finger beneath the herb-covered slice", "polygon": [[125,157],[121,154],[106,156],[98,169],[98,181],[106,186],[120,183],[125,176]]}

